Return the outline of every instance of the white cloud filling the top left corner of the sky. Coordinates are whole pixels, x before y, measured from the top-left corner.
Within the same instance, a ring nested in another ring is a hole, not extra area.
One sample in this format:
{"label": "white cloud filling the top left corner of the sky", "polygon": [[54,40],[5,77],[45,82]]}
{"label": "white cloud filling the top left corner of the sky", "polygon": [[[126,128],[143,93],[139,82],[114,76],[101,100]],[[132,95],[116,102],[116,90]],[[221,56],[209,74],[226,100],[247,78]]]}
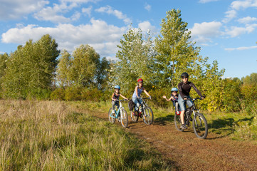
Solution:
{"label": "white cloud filling the top left corner of the sky", "polygon": [[20,19],[48,4],[46,0],[1,1],[0,20]]}

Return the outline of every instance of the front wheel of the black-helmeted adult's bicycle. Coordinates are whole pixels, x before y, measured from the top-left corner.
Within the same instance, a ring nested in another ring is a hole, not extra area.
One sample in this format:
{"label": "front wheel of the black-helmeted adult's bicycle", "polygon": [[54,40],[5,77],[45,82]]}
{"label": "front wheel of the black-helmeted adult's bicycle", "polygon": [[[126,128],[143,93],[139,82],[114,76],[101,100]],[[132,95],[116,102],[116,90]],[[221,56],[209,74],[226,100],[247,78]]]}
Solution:
{"label": "front wheel of the black-helmeted adult's bicycle", "polygon": [[193,120],[193,128],[196,137],[205,139],[208,135],[207,120],[201,113],[195,113]]}

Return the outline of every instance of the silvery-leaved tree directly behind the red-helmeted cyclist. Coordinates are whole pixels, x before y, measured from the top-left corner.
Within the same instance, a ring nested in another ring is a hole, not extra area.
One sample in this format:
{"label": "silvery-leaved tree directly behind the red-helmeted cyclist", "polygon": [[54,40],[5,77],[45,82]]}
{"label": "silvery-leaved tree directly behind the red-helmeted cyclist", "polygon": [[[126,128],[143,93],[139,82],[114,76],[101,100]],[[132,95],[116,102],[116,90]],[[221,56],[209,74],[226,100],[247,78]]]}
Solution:
{"label": "silvery-leaved tree directly behind the red-helmeted cyclist", "polygon": [[[132,92],[138,78],[151,83],[153,63],[152,41],[149,33],[144,39],[140,29],[130,28],[117,46],[119,51],[113,66],[111,86],[120,85],[125,92]],[[129,93],[130,94],[130,93]]]}

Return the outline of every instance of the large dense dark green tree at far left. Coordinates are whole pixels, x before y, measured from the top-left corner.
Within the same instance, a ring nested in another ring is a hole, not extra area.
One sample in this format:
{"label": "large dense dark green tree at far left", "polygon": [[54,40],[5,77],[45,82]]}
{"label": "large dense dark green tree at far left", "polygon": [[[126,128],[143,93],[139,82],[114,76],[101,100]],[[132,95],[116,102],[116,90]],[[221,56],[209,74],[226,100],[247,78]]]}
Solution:
{"label": "large dense dark green tree at far left", "polygon": [[60,51],[48,34],[33,43],[27,41],[11,53],[3,78],[4,95],[9,98],[26,98],[28,93],[50,89],[55,76]]}

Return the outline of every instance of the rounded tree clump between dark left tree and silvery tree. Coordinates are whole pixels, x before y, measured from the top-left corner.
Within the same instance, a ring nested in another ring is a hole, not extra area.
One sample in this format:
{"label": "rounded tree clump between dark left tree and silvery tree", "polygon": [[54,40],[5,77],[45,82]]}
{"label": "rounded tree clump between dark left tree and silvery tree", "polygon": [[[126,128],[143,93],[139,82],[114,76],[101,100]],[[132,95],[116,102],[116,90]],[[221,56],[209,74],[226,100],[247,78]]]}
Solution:
{"label": "rounded tree clump between dark left tree and silvery tree", "polygon": [[60,86],[103,88],[109,61],[100,59],[98,53],[89,45],[81,45],[70,56],[68,51],[61,53],[57,69]]}

